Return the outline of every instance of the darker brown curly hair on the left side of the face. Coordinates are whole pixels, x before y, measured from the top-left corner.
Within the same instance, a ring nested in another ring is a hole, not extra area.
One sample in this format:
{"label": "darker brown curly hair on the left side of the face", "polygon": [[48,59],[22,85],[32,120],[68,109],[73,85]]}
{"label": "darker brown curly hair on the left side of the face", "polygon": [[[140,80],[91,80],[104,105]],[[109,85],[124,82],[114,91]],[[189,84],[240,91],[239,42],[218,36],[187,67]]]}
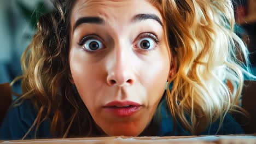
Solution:
{"label": "darker brown curly hair on the left side of the face", "polygon": [[[74,2],[53,1],[55,10],[39,18],[37,32],[21,58],[24,75],[19,77],[20,99],[31,99],[38,110],[30,130],[50,118],[53,137],[96,135],[92,118],[68,79],[67,32]],[[81,129],[83,126],[88,129]]]}

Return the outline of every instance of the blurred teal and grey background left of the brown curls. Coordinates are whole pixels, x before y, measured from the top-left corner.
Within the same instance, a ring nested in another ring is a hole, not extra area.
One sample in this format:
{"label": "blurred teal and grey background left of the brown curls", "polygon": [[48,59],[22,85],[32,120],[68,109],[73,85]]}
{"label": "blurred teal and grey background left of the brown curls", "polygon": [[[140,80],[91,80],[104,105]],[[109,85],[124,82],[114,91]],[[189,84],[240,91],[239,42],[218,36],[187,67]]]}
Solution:
{"label": "blurred teal and grey background left of the brown curls", "polygon": [[[21,75],[22,52],[36,31],[38,17],[51,9],[50,0],[0,0],[0,83]],[[21,93],[19,82],[13,91]]]}

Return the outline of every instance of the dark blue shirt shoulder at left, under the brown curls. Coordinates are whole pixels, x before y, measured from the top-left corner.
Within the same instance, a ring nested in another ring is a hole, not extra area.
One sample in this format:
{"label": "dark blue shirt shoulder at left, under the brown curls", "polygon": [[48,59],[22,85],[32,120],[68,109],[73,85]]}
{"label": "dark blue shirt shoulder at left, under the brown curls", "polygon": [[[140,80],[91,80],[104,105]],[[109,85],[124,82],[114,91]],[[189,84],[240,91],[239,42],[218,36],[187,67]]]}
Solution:
{"label": "dark blue shirt shoulder at left, under the brown curls", "polygon": [[[0,139],[22,139],[22,137],[24,137],[27,131],[31,128],[36,117],[37,111],[30,100],[24,100],[18,106],[10,107],[0,128]],[[40,135],[45,135],[40,129],[40,127],[45,126],[50,129],[49,122],[43,122],[39,126],[37,137],[40,137]],[[46,131],[48,131],[47,135],[49,135],[49,130]],[[33,137],[36,135],[35,132],[36,131],[32,129],[31,132],[28,133],[26,139],[33,139]]]}

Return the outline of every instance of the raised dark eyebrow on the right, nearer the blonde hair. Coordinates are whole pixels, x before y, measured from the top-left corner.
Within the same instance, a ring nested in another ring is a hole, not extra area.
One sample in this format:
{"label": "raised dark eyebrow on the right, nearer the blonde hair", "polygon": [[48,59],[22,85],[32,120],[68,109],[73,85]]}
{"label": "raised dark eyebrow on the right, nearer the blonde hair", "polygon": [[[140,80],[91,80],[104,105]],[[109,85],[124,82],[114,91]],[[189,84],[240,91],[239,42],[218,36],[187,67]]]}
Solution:
{"label": "raised dark eyebrow on the right, nearer the blonde hair", "polygon": [[161,26],[163,26],[162,21],[160,18],[155,15],[155,14],[137,14],[132,18],[132,22],[137,22],[137,21],[143,21],[143,20],[148,20],[152,19],[157,21]]}

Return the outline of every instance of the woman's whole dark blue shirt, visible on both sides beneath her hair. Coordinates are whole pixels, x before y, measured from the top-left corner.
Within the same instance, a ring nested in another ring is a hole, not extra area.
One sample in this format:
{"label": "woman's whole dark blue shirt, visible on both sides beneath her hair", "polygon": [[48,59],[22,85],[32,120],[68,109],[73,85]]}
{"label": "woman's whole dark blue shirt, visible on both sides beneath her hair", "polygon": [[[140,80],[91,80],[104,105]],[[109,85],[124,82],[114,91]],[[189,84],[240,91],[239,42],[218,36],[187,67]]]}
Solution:
{"label": "woman's whole dark blue shirt, visible on both sides beneath her hair", "polygon": [[[166,103],[160,106],[161,122],[158,130],[158,136],[182,136],[191,135],[189,131],[185,131],[181,124],[177,124],[176,129],[173,131],[173,118],[171,113],[166,109]],[[5,116],[2,126],[0,128],[0,140],[18,140],[26,134],[28,129],[34,122],[37,116],[37,111],[30,100],[25,100],[21,105],[13,107]],[[219,123],[212,123],[207,130],[203,131],[200,135],[225,135],[225,134],[243,134],[244,131],[240,125],[231,117],[226,115],[223,125],[217,133]],[[50,122],[49,120],[43,121],[38,130],[32,129],[27,135],[26,139],[51,138],[50,136]]]}

